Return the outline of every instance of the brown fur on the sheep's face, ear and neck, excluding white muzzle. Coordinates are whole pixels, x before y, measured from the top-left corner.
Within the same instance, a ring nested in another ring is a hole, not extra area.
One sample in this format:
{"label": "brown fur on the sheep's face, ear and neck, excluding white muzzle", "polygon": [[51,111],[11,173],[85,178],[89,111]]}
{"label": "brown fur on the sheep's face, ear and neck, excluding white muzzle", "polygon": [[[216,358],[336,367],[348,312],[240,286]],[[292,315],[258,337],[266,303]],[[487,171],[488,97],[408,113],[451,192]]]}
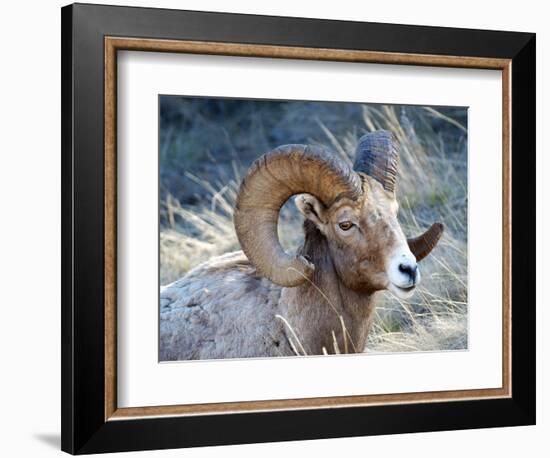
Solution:
{"label": "brown fur on the sheep's face, ear and neck, excluding white muzzle", "polygon": [[[315,272],[311,281],[284,288],[280,306],[309,354],[320,354],[323,347],[334,353],[333,332],[340,352],[346,346],[344,334],[349,352],[363,351],[373,299],[388,284],[388,254],[406,243],[393,194],[368,177],[364,180],[357,201],[341,199],[326,208],[310,195],[297,200],[306,217],[300,254],[315,265]],[[348,236],[336,227],[343,211],[357,224]]]}

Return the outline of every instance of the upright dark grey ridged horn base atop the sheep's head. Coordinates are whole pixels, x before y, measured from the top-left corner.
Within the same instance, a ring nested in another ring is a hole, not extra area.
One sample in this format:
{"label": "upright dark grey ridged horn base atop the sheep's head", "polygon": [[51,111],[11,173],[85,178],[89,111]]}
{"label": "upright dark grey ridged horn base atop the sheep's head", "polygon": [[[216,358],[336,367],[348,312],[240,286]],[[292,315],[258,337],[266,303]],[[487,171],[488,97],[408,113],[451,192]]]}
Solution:
{"label": "upright dark grey ridged horn base atop the sheep's head", "polygon": [[399,153],[395,139],[387,130],[363,135],[355,150],[353,169],[378,181],[386,191],[395,193]]}

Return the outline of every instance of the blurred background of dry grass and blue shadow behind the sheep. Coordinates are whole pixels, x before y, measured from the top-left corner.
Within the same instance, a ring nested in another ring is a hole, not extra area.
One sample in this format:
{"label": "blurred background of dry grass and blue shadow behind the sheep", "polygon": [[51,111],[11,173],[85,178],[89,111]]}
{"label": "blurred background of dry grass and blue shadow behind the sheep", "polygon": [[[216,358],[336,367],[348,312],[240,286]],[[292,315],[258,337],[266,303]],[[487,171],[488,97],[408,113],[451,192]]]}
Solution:
{"label": "blurred background of dry grass and blue shadow behind the sheep", "polygon": [[[239,250],[232,215],[241,177],[286,143],[329,146],[353,162],[366,132],[392,131],[400,147],[397,198],[407,236],[446,231],[422,261],[422,283],[401,301],[381,294],[367,352],[466,349],[467,109],[363,103],[160,96],[160,283]],[[280,216],[287,250],[303,241],[292,200]]]}

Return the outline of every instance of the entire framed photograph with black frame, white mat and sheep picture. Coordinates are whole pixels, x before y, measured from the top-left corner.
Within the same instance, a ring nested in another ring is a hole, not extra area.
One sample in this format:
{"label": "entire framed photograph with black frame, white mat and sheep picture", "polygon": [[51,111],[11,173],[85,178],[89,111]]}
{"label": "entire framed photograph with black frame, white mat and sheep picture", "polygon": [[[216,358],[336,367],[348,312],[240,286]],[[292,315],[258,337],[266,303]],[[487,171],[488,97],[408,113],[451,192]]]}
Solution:
{"label": "entire framed photograph with black frame, white mat and sheep picture", "polygon": [[535,423],[535,35],[62,9],[62,449]]}

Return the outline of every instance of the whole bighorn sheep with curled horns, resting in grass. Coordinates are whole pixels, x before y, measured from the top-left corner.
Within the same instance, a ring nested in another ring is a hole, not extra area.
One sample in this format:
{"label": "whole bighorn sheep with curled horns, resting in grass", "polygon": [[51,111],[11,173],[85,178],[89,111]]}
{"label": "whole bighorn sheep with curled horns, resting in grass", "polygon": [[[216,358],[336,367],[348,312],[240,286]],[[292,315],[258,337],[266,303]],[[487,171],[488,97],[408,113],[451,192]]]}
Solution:
{"label": "whole bighorn sheep with curled horns, resting in grass", "polygon": [[[406,239],[397,221],[398,153],[377,131],[353,169],[330,151],[285,145],[243,179],[234,222],[243,251],[199,265],[161,291],[160,360],[315,355],[364,350],[377,291],[409,297],[417,262],[443,225]],[[305,217],[296,255],[278,239],[291,196]]]}

